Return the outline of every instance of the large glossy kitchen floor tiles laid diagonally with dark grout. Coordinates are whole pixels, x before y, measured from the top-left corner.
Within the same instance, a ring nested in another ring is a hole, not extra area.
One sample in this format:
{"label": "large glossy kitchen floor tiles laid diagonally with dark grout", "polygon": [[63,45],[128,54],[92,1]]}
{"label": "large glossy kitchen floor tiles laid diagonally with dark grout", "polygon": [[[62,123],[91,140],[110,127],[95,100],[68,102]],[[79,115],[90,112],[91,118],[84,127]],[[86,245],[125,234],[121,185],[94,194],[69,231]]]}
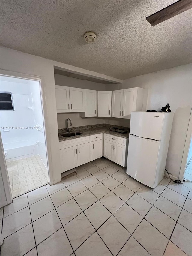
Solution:
{"label": "large glossy kitchen floor tiles laid diagonally with dark grout", "polygon": [[152,190],[104,158],[76,173],[0,209],[1,256],[192,256],[192,187]]}

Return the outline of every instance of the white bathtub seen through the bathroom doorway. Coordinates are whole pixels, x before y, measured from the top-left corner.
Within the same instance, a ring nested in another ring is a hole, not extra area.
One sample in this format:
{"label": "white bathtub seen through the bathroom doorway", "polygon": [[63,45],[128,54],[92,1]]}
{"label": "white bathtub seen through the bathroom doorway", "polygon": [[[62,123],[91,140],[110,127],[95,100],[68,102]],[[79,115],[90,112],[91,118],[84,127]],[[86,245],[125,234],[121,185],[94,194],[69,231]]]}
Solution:
{"label": "white bathtub seen through the bathroom doorway", "polygon": [[38,146],[33,140],[22,140],[3,144],[4,151],[7,151],[7,161],[13,161],[38,154]]}

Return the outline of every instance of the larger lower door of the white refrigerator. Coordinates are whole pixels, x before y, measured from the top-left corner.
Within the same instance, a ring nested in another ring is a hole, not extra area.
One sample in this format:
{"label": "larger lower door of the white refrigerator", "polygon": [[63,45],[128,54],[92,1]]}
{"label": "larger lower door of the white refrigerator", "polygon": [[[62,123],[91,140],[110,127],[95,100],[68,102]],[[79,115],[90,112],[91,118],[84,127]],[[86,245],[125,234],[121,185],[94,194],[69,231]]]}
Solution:
{"label": "larger lower door of the white refrigerator", "polygon": [[127,174],[154,188],[160,142],[129,136]]}

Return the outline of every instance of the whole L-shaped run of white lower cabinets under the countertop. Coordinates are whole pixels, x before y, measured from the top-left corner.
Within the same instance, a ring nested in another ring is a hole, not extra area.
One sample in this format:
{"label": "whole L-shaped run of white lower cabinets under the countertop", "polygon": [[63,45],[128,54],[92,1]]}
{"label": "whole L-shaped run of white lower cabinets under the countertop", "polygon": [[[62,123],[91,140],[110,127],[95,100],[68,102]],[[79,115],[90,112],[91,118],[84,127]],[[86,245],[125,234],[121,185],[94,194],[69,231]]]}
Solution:
{"label": "whole L-shaped run of white lower cabinets under the countertop", "polygon": [[128,139],[106,133],[61,141],[59,148],[61,173],[103,155],[123,167],[127,164]]}

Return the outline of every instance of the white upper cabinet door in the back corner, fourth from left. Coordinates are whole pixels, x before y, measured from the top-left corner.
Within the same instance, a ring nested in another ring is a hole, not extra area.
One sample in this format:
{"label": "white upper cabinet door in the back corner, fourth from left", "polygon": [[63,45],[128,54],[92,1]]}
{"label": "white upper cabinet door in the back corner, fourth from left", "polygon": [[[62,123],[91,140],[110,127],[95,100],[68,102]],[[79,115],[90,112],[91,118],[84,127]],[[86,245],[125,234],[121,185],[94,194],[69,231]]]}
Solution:
{"label": "white upper cabinet door in the back corner, fourth from left", "polygon": [[111,91],[98,92],[98,116],[111,116]]}

